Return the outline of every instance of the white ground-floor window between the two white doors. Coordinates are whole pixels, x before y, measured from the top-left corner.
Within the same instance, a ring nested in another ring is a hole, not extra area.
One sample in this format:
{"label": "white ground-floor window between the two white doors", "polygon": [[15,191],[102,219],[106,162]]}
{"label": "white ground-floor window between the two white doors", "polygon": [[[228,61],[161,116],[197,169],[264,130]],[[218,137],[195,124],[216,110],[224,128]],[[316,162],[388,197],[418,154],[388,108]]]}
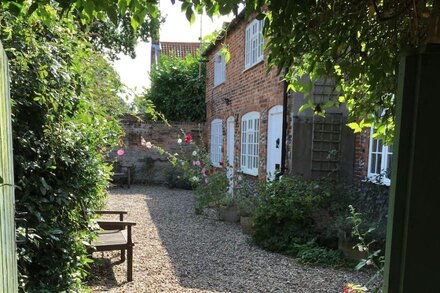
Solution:
{"label": "white ground-floor window between the two white doors", "polygon": [[241,120],[241,170],[249,175],[258,175],[258,142],[260,113],[250,112]]}

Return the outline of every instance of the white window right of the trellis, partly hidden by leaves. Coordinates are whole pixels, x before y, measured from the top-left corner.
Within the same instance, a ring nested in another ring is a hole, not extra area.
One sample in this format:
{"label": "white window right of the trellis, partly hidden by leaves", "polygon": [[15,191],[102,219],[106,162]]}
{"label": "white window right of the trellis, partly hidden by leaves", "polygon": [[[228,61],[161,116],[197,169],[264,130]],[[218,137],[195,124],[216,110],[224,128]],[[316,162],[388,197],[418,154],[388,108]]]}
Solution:
{"label": "white window right of the trellis, partly hidden by leaves", "polygon": [[373,182],[390,185],[393,146],[384,145],[383,141],[374,139],[373,133],[374,129],[371,128],[368,156],[368,178]]}

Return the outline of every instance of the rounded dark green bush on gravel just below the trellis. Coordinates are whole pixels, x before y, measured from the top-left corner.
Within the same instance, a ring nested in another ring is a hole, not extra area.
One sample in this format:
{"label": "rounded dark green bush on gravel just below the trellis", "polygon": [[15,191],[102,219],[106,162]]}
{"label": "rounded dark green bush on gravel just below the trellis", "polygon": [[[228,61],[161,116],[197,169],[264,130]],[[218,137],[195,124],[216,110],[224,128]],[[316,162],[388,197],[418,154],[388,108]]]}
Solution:
{"label": "rounded dark green bush on gravel just below the trellis", "polygon": [[321,241],[331,234],[326,227],[333,220],[337,198],[334,184],[327,180],[283,177],[267,183],[253,216],[253,239],[263,248],[284,253],[295,244]]}

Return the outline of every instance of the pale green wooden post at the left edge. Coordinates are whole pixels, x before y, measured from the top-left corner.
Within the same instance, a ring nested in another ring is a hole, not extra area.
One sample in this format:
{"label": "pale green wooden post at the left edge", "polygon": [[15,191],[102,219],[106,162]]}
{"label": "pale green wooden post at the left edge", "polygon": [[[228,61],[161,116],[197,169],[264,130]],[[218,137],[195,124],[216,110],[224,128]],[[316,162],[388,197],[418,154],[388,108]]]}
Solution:
{"label": "pale green wooden post at the left edge", "polygon": [[0,292],[17,292],[11,103],[8,63],[0,43]]}

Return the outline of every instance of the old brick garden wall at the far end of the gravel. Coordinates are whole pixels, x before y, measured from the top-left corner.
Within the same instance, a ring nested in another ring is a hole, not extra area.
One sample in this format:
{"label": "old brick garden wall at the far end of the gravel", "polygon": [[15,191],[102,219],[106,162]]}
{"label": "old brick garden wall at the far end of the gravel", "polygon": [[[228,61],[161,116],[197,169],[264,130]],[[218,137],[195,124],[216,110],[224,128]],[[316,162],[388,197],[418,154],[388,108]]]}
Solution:
{"label": "old brick garden wall at the far end of the gravel", "polygon": [[126,116],[121,123],[125,131],[125,154],[118,160],[123,165],[134,166],[133,182],[137,184],[165,184],[167,171],[172,168],[164,155],[141,146],[141,137],[170,153],[176,153],[180,152],[177,138],[183,138],[181,130],[191,133],[197,141],[204,127],[203,123],[195,122],[170,122],[169,127],[161,122],[140,122],[132,116]]}

